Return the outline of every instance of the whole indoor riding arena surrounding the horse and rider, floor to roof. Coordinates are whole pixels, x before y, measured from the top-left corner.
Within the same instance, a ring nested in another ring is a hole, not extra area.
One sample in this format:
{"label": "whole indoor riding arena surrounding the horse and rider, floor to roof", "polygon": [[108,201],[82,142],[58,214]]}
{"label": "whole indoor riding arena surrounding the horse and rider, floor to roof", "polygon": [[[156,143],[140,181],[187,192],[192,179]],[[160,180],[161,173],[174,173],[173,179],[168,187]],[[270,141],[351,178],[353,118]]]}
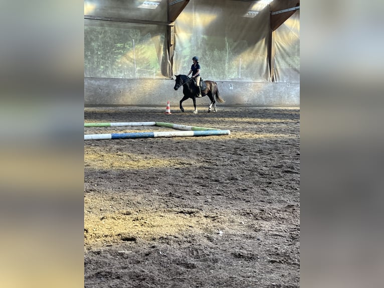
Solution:
{"label": "whole indoor riding arena surrounding the horse and rider, floor to roof", "polygon": [[299,0],[84,1],[85,287],[300,286],[299,36]]}

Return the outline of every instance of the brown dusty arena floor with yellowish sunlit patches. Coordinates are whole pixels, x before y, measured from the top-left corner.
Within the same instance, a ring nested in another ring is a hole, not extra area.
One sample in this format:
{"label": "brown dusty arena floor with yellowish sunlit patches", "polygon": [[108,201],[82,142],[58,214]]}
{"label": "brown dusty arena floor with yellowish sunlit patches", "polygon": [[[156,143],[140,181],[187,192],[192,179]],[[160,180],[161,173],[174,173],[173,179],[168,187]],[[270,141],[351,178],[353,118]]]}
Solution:
{"label": "brown dusty arena floor with yellowish sunlit patches", "polygon": [[85,122],[231,130],[84,141],[85,287],[299,287],[299,108],[174,105],[84,109]]}

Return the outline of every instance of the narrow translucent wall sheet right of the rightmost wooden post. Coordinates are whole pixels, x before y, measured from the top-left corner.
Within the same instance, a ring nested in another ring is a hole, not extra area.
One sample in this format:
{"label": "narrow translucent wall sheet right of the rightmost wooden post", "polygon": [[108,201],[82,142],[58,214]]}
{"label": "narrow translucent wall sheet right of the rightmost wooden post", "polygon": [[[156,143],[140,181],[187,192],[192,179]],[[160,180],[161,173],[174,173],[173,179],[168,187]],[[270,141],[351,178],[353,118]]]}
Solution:
{"label": "narrow translucent wall sheet right of the rightmost wooden post", "polygon": [[300,82],[300,10],[275,31],[276,82]]}

